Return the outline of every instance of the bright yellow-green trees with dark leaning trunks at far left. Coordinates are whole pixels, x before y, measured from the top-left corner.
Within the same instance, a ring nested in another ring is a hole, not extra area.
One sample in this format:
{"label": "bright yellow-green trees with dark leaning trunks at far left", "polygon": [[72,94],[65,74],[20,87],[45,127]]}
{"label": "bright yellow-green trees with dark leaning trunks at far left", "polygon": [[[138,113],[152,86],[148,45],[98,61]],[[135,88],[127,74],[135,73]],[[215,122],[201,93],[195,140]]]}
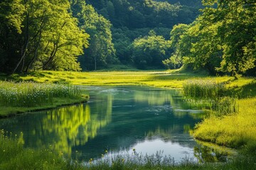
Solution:
{"label": "bright yellow-green trees with dark leaning trunks at far left", "polygon": [[71,16],[68,0],[6,1],[0,7],[1,72],[80,70],[77,57],[88,35]]}

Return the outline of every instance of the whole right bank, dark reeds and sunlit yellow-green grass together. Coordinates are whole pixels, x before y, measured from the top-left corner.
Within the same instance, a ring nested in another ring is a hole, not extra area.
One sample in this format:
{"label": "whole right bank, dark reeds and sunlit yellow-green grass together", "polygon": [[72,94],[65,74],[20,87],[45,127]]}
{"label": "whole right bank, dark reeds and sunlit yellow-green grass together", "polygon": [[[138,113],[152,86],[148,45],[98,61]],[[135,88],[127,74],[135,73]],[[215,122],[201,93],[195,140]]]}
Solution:
{"label": "whole right bank, dark reeds and sunlit yellow-green grass together", "polygon": [[255,81],[231,89],[228,84],[196,79],[183,85],[187,98],[210,103],[210,116],[196,125],[193,135],[198,140],[256,151]]}

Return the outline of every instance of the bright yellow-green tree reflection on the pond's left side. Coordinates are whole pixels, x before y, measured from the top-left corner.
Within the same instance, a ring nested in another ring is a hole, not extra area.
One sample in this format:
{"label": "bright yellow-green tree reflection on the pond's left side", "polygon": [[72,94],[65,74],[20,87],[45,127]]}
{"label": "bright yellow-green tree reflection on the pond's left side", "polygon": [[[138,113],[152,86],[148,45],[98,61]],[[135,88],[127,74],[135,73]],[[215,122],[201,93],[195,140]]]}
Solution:
{"label": "bright yellow-green tree reflection on the pond's left side", "polygon": [[[97,130],[111,121],[112,98],[107,97],[105,102],[94,106],[91,113],[89,104],[58,108],[48,111],[46,118],[42,120],[41,129],[48,138],[48,144],[65,154],[71,154],[71,148],[85,143],[97,135]],[[97,112],[100,111],[100,112]],[[39,140],[39,139],[38,139]]]}

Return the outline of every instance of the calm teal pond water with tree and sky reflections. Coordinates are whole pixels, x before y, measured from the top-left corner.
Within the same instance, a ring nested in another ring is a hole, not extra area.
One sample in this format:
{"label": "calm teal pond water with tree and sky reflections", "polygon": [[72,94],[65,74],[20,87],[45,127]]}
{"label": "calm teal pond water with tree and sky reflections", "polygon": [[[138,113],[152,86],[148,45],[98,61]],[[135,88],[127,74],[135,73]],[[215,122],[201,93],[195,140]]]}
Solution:
{"label": "calm teal pond water with tree and sky reflections", "polygon": [[[0,128],[20,134],[26,147],[55,149],[81,160],[108,153],[163,151],[176,162],[225,161],[228,152],[197,144],[189,135],[203,111],[180,91],[142,86],[82,86],[90,101],[0,120]],[[76,154],[78,153],[78,154]]]}

